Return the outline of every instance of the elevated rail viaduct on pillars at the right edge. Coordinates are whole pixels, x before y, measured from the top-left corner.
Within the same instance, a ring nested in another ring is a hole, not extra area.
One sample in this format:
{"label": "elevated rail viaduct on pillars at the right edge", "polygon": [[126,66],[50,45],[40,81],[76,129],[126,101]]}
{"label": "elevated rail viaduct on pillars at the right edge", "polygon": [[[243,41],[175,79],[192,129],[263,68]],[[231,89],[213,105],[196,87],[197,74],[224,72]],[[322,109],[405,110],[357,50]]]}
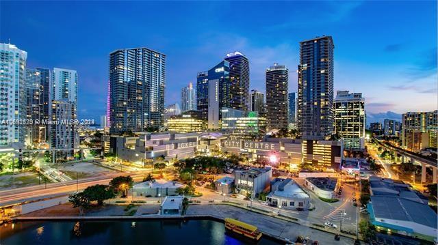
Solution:
{"label": "elevated rail viaduct on pillars at the right edge", "polygon": [[415,154],[413,152],[408,152],[405,149],[402,149],[400,147],[396,147],[394,145],[390,145],[388,143],[385,143],[383,141],[379,141],[376,138],[373,138],[374,142],[376,142],[378,145],[383,147],[384,149],[387,149],[388,151],[392,152],[394,156],[397,156],[396,154],[402,156],[402,162],[405,162],[406,160],[409,160],[409,162],[412,162],[412,164],[421,164],[422,165],[422,183],[426,183],[426,168],[432,169],[432,179],[433,183],[437,183],[438,179],[438,163],[437,160],[432,158],[426,158],[425,156],[421,156],[419,154]]}

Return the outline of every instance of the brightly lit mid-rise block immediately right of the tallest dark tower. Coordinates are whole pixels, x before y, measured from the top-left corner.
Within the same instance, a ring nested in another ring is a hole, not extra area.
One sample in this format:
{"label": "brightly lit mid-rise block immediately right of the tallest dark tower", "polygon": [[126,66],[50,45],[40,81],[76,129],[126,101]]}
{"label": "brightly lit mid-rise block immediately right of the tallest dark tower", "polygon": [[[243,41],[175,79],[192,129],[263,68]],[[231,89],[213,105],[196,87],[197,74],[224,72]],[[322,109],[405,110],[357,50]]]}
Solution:
{"label": "brightly lit mid-rise block immediately right of the tallest dark tower", "polygon": [[365,98],[362,93],[337,91],[335,132],[344,140],[344,149],[365,149]]}

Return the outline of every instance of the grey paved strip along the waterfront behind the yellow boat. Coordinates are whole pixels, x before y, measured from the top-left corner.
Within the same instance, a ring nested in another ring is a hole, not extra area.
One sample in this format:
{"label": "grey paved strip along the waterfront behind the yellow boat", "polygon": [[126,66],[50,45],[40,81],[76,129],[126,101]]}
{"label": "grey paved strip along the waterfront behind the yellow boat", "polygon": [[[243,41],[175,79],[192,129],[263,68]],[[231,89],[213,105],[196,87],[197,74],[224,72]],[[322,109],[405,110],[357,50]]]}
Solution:
{"label": "grey paved strip along the waterfront behind the yellow boat", "polygon": [[263,214],[256,214],[229,205],[190,205],[186,214],[210,214],[222,218],[236,218],[259,227],[263,232],[286,237],[292,241],[294,241],[298,235],[302,235],[309,237],[311,240],[317,240],[320,244],[353,244],[354,242],[352,239],[346,237],[342,237],[340,241],[335,241],[332,233],[311,229],[294,222],[287,222]]}

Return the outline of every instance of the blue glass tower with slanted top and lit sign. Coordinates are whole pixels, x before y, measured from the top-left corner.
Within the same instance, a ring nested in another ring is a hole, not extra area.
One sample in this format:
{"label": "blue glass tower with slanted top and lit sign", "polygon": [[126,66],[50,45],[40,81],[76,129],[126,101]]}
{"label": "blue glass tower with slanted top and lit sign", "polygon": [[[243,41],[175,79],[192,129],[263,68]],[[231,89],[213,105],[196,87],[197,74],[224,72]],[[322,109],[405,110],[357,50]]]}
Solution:
{"label": "blue glass tower with slanted top and lit sign", "polygon": [[229,107],[229,62],[221,61],[207,72],[199,72],[196,85],[197,109],[209,129],[218,129],[220,109]]}

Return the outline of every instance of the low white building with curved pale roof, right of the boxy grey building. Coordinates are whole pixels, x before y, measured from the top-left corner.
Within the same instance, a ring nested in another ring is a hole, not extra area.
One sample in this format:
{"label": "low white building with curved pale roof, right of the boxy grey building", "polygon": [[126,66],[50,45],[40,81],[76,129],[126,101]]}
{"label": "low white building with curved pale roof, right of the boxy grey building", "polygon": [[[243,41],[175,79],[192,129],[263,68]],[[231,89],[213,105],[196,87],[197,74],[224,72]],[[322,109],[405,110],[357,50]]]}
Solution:
{"label": "low white building with curved pale roof, right of the boxy grey building", "polygon": [[292,179],[275,179],[266,201],[275,207],[288,210],[308,210],[311,207],[310,196]]}

